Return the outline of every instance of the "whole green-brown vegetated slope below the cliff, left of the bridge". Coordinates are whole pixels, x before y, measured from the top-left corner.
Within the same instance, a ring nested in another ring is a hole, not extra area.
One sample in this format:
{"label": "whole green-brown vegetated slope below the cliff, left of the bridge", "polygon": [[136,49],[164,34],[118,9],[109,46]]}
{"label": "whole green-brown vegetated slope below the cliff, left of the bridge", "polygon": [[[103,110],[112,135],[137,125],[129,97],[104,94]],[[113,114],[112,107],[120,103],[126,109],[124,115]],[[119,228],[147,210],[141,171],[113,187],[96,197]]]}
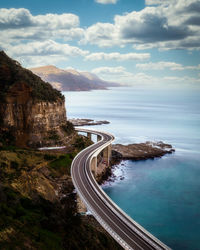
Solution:
{"label": "whole green-brown vegetated slope below the cliff, left of the bridge", "polygon": [[[74,156],[0,150],[0,249],[121,249],[87,216],[77,214],[69,176]],[[63,191],[50,200],[58,183]]]}

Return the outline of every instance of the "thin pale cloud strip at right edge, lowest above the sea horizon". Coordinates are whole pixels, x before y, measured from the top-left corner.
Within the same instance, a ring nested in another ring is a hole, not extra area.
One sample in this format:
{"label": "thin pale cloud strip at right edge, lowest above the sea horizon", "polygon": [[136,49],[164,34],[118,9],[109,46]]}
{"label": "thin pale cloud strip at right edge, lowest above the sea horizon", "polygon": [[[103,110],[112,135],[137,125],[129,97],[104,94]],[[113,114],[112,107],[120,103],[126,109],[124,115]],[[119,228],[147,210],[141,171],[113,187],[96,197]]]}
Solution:
{"label": "thin pale cloud strip at right edge, lowest above the sea horizon", "polygon": [[183,66],[182,64],[175,62],[156,62],[156,63],[140,63],[136,64],[136,68],[140,70],[200,70],[200,64],[197,66]]}

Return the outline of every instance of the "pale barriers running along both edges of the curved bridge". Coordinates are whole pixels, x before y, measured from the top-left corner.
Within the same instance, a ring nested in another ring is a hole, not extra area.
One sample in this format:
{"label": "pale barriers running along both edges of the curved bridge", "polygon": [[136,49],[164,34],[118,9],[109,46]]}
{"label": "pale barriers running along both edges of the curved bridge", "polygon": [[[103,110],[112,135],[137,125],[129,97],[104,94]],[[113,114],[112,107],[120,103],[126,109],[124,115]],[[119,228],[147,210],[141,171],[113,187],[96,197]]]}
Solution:
{"label": "pale barriers running along both edges of the curved bridge", "polygon": [[[88,130],[88,129],[76,129],[77,131],[80,132],[85,132],[85,133],[91,133],[91,134],[95,134],[95,135],[99,135],[101,136],[101,140],[98,141],[97,143],[100,143],[103,141],[103,136],[100,132],[98,131],[93,131],[93,130]],[[102,132],[103,133],[103,132]],[[105,134],[108,134],[109,136],[111,136],[111,140],[106,142],[105,144],[101,145],[98,149],[94,149],[87,157],[86,162],[89,160],[89,165],[91,167],[91,161],[93,159],[93,157],[97,157],[98,154],[107,146],[109,146],[113,141],[114,141],[114,137],[105,132]],[[83,151],[88,150],[89,148],[91,148],[93,145],[87,147],[86,149],[84,149]],[[82,153],[83,151],[81,151],[80,153]],[[80,154],[79,153],[79,154]],[[75,159],[77,157],[79,157],[79,154],[75,157]],[[74,159],[74,160],[75,160]],[[73,161],[74,162],[74,161]],[[72,164],[73,164],[72,162]],[[90,168],[91,171],[91,168]],[[170,250],[170,248],[168,246],[166,246],[163,242],[161,242],[160,240],[158,240],[155,236],[153,236],[151,233],[149,233],[146,229],[144,229],[141,225],[139,225],[136,221],[134,221],[131,217],[129,217],[121,208],[119,208],[107,195],[106,193],[99,187],[98,189],[94,186],[94,182],[97,184],[94,176],[91,174],[91,176],[88,175],[88,173],[86,172],[86,175],[88,177],[88,180],[90,181],[91,186],[93,187],[93,189],[96,191],[96,193],[98,193],[99,197],[101,197],[101,200],[104,201],[104,203],[110,207],[111,209],[114,209],[115,214],[120,217],[121,220],[124,221],[124,223],[126,223],[134,232],[137,233],[137,235],[139,235],[140,237],[142,237],[146,242],[149,243],[150,246],[153,247],[153,249],[157,249],[157,250],[161,250],[161,249],[165,249],[165,250]],[[92,178],[92,180],[91,180]],[[93,207],[91,207],[91,205],[87,202],[87,200],[84,198],[84,195],[82,195],[81,190],[79,189],[76,181],[73,179],[73,175],[72,175],[72,181],[74,183],[74,186],[77,190],[77,193],[79,194],[80,198],[82,199],[82,201],[85,203],[86,207],[88,208],[89,211],[92,212],[93,216],[96,218],[96,220],[103,226],[103,228],[124,248],[127,250],[131,250],[133,249],[131,246],[129,246],[118,234],[116,234],[112,228],[96,213],[96,211],[93,209]],[[98,184],[97,184],[98,185]],[[106,199],[105,199],[106,197]],[[135,225],[135,226],[133,226]],[[154,243],[155,242],[155,243]]]}

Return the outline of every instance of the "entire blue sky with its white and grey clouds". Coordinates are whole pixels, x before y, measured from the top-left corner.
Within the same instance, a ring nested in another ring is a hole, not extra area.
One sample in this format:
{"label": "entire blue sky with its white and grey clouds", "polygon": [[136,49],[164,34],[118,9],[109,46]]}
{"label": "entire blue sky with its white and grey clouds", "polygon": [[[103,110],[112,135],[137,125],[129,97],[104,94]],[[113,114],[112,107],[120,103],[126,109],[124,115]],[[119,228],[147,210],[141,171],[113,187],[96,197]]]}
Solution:
{"label": "entire blue sky with its white and grey clouds", "polygon": [[200,87],[200,0],[1,0],[0,49],[131,85]]}

